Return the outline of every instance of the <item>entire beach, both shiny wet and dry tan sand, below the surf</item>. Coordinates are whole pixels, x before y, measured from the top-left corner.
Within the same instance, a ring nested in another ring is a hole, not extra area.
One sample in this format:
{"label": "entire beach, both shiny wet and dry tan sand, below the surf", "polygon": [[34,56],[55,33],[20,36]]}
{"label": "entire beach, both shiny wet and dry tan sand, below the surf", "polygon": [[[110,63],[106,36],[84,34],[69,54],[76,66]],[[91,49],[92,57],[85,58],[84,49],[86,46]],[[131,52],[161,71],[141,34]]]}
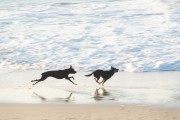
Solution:
{"label": "entire beach, both shiny wet and dry tan sand, below the surf", "polygon": [[78,73],[72,85],[42,71],[1,74],[0,120],[179,120],[179,72],[118,73],[102,87]]}

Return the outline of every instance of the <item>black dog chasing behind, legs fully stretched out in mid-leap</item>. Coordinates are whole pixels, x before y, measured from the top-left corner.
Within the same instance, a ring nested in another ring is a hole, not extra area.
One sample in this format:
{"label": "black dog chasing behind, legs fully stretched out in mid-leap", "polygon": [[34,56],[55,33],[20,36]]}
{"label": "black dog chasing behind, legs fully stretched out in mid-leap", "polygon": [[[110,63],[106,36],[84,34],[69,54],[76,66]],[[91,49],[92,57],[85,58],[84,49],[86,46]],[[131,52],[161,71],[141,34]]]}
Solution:
{"label": "black dog chasing behind, legs fully stretched out in mid-leap", "polygon": [[[74,77],[68,77],[69,74],[75,74],[76,71],[72,68],[72,66],[70,66],[69,69],[65,69],[65,70],[58,70],[58,71],[47,71],[47,72],[44,72],[42,73],[41,75],[41,78],[38,79],[38,80],[32,80],[31,82],[35,82],[33,85],[37,84],[38,82],[41,82],[41,81],[44,81],[46,78],[48,77],[54,77],[54,78],[57,78],[57,79],[67,79],[69,80],[70,82],[72,82],[73,84],[75,84],[73,81],[71,81],[70,78],[73,78],[74,80]],[[77,84],[75,84],[77,85]]]}

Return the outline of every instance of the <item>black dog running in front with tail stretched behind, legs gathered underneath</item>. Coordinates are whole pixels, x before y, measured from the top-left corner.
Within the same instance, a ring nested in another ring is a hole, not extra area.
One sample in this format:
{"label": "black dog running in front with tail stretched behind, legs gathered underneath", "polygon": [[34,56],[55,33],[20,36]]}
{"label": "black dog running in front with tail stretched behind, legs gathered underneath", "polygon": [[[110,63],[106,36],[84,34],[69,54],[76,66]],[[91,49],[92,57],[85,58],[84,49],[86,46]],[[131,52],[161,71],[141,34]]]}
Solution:
{"label": "black dog running in front with tail stretched behind, legs gathered underneath", "polygon": [[[104,71],[104,70],[96,70],[94,72],[92,72],[89,75],[85,75],[85,76],[91,76],[92,74],[94,75],[94,79],[96,80],[97,83],[104,85],[104,83],[111,78],[115,72],[118,72],[119,69],[113,68],[111,67],[111,70],[108,71]],[[103,80],[101,82],[99,82],[100,77],[103,78]]]}

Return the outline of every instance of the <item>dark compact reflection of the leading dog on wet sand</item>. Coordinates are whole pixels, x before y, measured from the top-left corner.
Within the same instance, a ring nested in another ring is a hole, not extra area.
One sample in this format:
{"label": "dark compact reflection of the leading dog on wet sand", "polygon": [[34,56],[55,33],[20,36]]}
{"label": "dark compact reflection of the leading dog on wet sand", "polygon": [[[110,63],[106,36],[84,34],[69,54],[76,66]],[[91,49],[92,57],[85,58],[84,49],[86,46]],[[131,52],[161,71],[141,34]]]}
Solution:
{"label": "dark compact reflection of the leading dog on wet sand", "polygon": [[[97,88],[94,92],[95,100],[115,100],[115,98],[105,88]],[[107,99],[108,98],[108,99]]]}

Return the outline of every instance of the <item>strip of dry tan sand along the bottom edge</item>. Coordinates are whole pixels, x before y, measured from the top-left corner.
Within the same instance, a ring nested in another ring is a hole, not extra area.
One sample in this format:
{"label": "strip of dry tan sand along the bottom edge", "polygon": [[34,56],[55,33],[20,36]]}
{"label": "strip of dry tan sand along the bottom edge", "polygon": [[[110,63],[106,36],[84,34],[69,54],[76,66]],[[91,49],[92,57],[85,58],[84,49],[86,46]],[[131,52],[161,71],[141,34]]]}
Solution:
{"label": "strip of dry tan sand along the bottom edge", "polygon": [[0,120],[179,120],[180,110],[120,104],[0,104]]}

